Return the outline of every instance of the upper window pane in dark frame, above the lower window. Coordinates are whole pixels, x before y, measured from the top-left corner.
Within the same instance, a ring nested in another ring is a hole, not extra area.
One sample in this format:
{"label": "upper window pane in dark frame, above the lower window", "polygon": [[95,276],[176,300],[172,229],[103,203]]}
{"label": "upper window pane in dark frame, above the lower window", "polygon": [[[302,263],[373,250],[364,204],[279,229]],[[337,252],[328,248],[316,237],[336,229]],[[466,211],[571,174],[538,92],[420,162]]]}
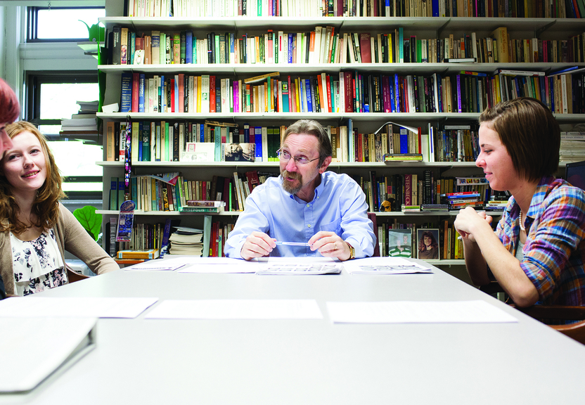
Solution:
{"label": "upper window pane in dark frame, above the lower window", "polygon": [[[87,27],[105,17],[103,7],[29,7],[27,42],[86,41]],[[81,20],[81,21],[79,21]]]}

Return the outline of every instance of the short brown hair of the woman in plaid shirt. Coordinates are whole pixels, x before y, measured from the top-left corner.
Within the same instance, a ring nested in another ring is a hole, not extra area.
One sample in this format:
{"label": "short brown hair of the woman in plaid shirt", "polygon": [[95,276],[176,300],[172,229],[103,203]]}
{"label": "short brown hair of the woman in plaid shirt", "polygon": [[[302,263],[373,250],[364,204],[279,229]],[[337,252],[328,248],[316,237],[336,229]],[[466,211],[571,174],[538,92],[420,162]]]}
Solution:
{"label": "short brown hair of the woman in plaid shirt", "polygon": [[482,123],[498,133],[514,168],[528,181],[558,170],[560,128],[541,101],[529,97],[503,101],[484,110]]}

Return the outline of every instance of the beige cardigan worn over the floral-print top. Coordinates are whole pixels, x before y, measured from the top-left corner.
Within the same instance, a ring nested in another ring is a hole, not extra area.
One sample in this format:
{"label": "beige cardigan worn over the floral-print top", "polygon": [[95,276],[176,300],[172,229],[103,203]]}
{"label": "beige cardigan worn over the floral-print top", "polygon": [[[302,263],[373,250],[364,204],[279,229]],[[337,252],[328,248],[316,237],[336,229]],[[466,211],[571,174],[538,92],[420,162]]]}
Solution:
{"label": "beige cardigan worn over the floral-print top", "polygon": [[[109,271],[120,269],[108,254],[89,236],[73,214],[59,204],[60,215],[55,224],[55,236],[61,259],[65,263],[64,252],[67,250],[82,261],[95,274],[104,274]],[[3,224],[8,219],[2,220]],[[14,294],[14,273],[12,268],[12,247],[9,232],[0,232],[0,271],[4,279],[6,294]]]}

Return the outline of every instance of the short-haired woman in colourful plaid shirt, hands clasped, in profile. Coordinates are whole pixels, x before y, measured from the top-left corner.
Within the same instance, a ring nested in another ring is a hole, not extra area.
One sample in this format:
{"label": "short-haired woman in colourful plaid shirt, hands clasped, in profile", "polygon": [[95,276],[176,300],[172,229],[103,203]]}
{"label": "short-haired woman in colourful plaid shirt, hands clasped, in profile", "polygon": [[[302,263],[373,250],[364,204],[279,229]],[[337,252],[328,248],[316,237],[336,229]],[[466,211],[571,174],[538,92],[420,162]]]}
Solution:
{"label": "short-haired woman in colourful plaid shirt, hands clasped, in profile", "polygon": [[495,278],[520,307],[585,304],[585,193],[558,170],[560,129],[546,105],[515,98],[480,115],[480,155],[491,188],[510,191],[496,228],[491,217],[461,210],[455,228],[463,237],[471,280]]}

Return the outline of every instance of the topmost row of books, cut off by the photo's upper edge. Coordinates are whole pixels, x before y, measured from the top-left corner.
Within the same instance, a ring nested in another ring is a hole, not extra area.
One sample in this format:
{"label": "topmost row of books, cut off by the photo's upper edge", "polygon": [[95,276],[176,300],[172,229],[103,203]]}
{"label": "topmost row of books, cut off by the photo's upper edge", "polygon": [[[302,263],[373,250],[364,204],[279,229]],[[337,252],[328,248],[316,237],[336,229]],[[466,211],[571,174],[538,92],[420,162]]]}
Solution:
{"label": "topmost row of books, cut off by the photo's upper edge", "polygon": [[499,17],[581,18],[582,0],[534,2],[516,0],[387,0],[295,1],[262,0],[129,0],[124,15],[130,17]]}

